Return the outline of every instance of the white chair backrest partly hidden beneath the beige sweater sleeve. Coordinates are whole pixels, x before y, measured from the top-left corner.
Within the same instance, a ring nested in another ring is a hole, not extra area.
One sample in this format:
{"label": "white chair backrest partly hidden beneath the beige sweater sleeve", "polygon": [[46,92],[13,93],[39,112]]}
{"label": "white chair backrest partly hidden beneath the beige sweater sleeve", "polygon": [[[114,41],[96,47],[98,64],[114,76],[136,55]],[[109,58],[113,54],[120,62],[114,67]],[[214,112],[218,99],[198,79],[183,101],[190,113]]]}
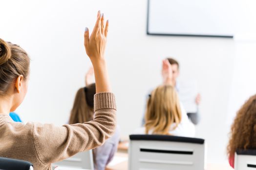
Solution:
{"label": "white chair backrest partly hidden beneath the beige sweater sleeve", "polygon": [[94,170],[92,150],[77,153],[63,161],[54,163],[53,166]]}

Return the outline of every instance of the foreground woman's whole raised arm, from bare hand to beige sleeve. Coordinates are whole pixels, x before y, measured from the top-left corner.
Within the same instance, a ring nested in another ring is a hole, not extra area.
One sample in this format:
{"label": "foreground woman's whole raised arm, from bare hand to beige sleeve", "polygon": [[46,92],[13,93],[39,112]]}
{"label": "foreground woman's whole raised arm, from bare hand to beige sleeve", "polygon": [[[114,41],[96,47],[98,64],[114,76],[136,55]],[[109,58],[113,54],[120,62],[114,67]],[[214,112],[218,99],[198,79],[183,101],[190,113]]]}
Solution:
{"label": "foreground woman's whole raised arm, from bare hand to beige sleeve", "polygon": [[88,29],[85,30],[85,50],[92,62],[96,82],[94,119],[62,127],[33,124],[34,148],[44,166],[101,146],[115,131],[116,102],[114,94],[110,92],[104,58],[107,29],[108,21],[105,25],[103,15],[98,13],[91,35]]}

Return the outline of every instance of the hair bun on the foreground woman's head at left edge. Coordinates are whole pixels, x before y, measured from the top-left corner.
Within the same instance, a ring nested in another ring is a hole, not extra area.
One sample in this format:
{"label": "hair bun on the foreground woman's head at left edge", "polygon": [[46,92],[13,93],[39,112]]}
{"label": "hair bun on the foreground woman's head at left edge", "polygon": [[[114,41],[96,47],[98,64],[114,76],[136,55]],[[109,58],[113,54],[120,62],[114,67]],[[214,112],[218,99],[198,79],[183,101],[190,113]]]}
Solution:
{"label": "hair bun on the foreground woman's head at left edge", "polygon": [[11,47],[0,38],[0,65],[4,64],[12,56]]}

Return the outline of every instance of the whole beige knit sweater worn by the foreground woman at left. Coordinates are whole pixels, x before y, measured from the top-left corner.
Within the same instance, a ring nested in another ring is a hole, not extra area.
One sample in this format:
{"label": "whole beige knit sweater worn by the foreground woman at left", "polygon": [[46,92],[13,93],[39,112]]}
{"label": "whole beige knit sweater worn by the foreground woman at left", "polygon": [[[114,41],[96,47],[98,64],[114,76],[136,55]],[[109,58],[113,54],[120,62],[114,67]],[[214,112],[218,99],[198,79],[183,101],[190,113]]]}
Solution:
{"label": "whole beige knit sweater worn by the foreground woman at left", "polygon": [[102,145],[115,130],[114,94],[96,94],[94,110],[92,121],[61,127],[23,124],[0,114],[0,157],[29,161],[34,170],[51,170],[51,163]]}

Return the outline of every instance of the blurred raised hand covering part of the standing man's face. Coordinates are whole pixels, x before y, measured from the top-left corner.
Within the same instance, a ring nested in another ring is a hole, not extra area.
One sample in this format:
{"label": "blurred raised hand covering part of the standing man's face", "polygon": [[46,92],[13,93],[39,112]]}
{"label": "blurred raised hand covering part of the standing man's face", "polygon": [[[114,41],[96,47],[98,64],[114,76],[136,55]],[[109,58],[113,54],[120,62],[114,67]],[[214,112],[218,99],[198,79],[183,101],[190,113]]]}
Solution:
{"label": "blurred raised hand covering part of the standing man's face", "polygon": [[174,85],[172,81],[172,69],[171,64],[167,59],[163,60],[162,64],[162,76],[164,85]]}

